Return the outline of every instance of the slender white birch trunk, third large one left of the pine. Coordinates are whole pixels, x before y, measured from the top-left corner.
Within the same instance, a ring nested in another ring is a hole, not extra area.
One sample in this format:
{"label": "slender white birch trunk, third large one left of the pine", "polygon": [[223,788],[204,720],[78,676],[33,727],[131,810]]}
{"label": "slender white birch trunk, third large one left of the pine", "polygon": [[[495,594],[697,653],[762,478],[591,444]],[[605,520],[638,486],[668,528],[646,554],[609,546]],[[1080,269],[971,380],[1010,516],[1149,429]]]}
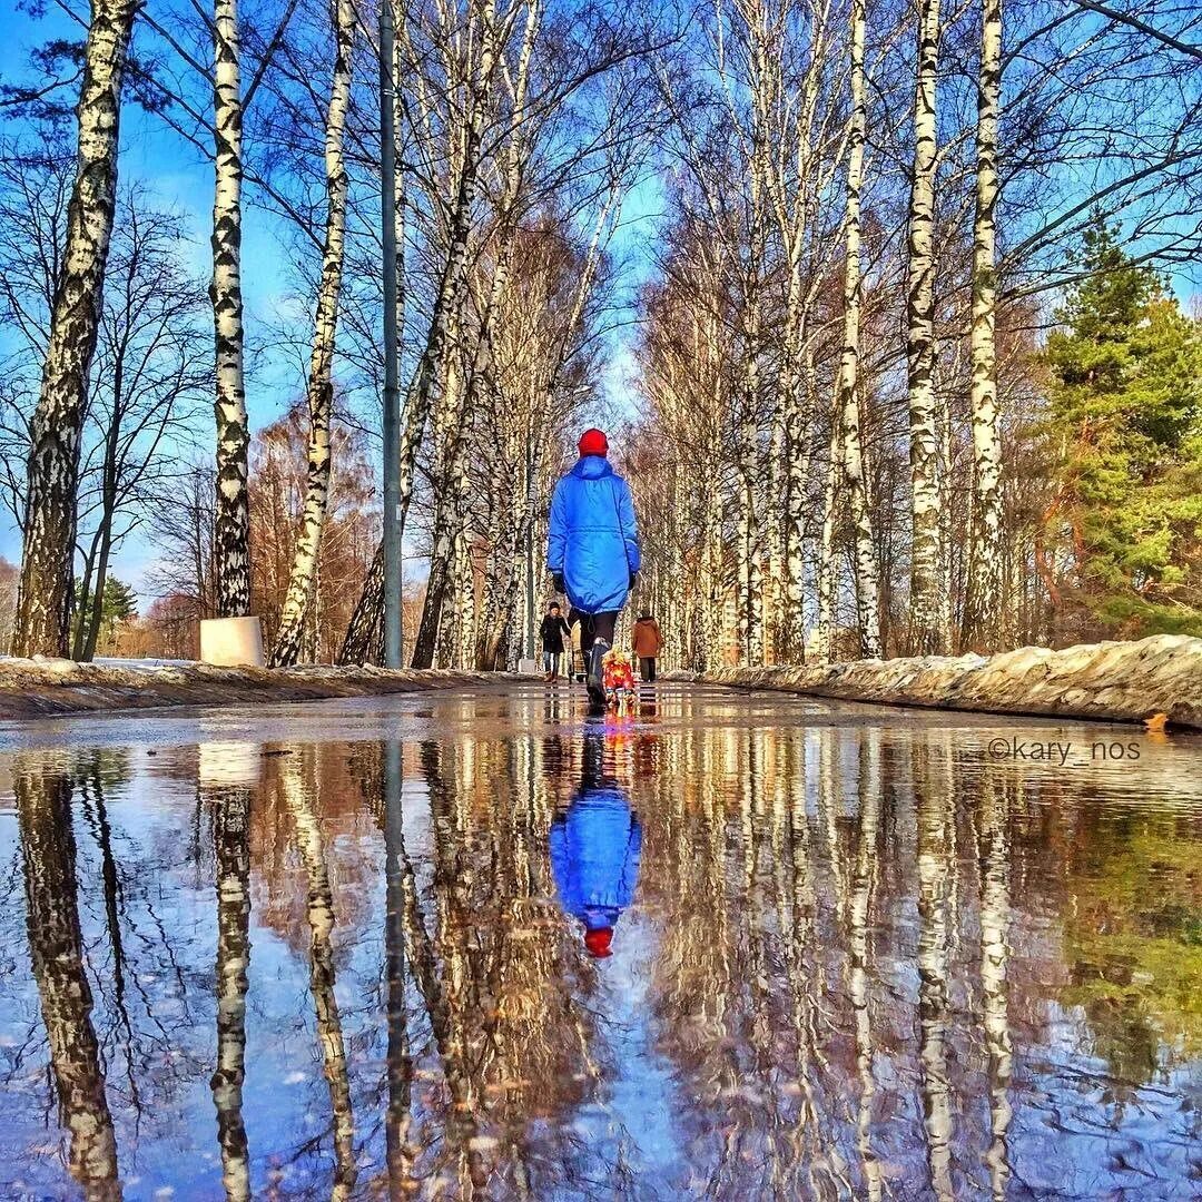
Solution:
{"label": "slender white birch trunk, third large one left of the pine", "polygon": [[843,476],[855,528],[856,612],[859,649],[865,659],[881,654],[881,615],[877,603],[876,545],[864,490],[863,452],[859,442],[859,194],[864,180],[864,0],[851,5],[851,127],[847,142],[846,258],[843,285],[843,355],[839,361],[839,412],[843,434]]}

